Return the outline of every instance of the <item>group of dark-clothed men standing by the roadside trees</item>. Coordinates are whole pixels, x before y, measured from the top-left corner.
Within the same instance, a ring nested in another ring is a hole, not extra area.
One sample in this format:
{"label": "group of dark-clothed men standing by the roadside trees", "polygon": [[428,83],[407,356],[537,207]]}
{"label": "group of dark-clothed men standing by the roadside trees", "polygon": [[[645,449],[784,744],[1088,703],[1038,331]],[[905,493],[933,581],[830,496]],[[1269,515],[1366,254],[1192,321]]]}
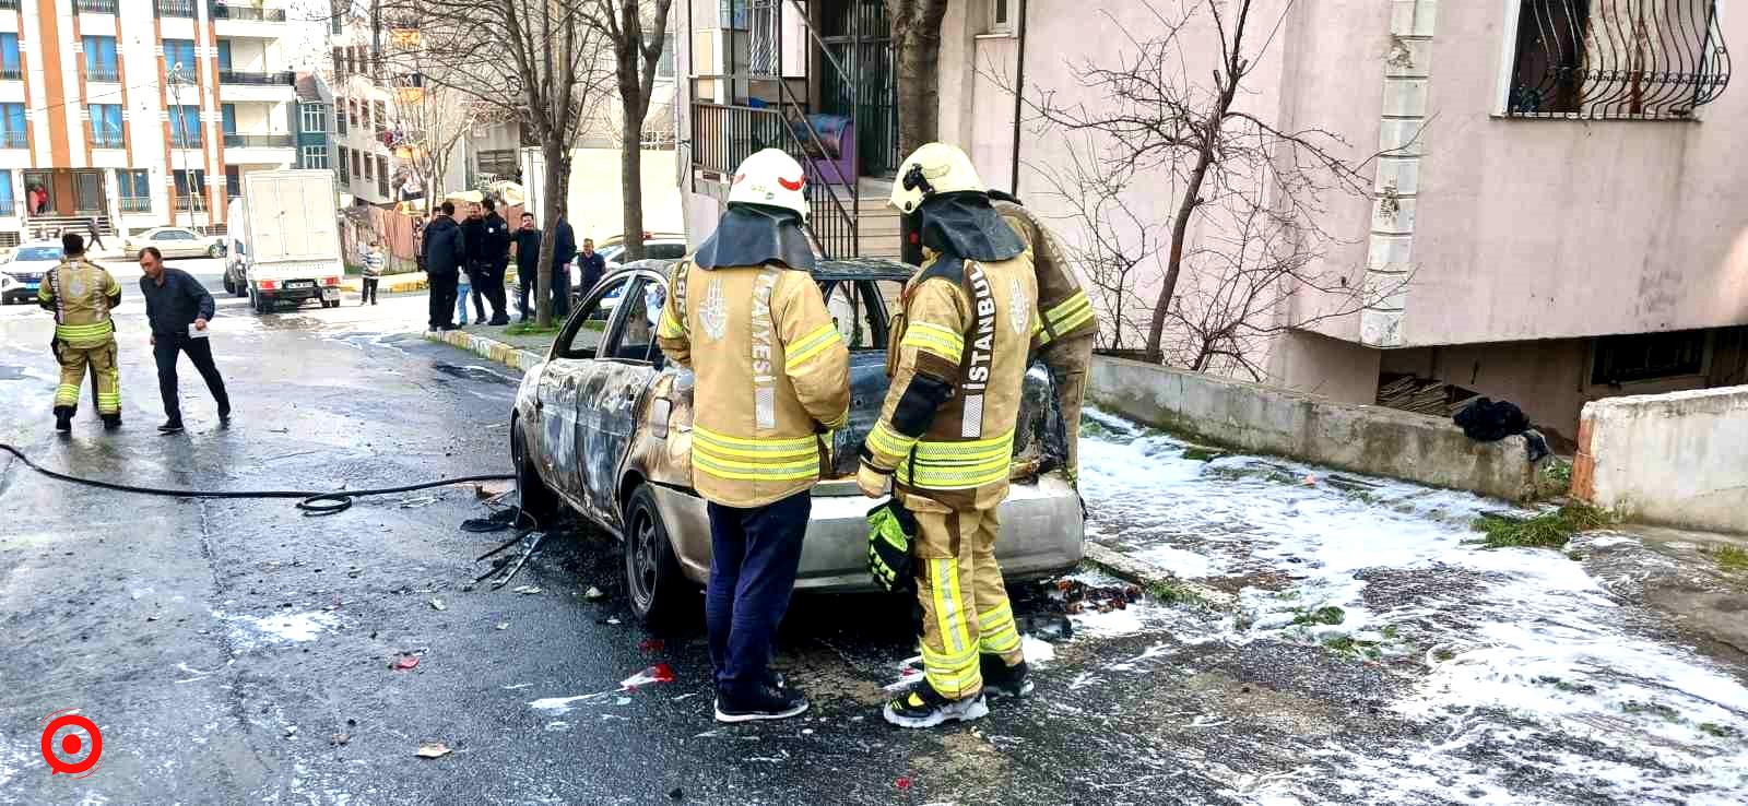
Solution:
{"label": "group of dark-clothed men standing by the roadside trees", "polygon": [[[584,288],[600,280],[601,261],[594,243],[584,241],[584,255],[577,254],[577,234],[559,210],[556,243],[552,247],[552,315],[570,313],[570,262],[584,264]],[[521,213],[516,229],[498,215],[496,203],[484,199],[468,205],[468,215],[456,220],[454,201],[444,201],[423,229],[421,262],[430,278],[430,329],[454,330],[467,325],[472,299],[474,322],[489,325],[510,323],[509,295],[503,280],[510,259],[516,261],[521,320],[531,318],[528,304],[540,273],[540,229],[533,213]],[[591,261],[593,259],[593,261]],[[591,280],[591,271],[593,280]],[[486,318],[486,306],[491,318]]]}

